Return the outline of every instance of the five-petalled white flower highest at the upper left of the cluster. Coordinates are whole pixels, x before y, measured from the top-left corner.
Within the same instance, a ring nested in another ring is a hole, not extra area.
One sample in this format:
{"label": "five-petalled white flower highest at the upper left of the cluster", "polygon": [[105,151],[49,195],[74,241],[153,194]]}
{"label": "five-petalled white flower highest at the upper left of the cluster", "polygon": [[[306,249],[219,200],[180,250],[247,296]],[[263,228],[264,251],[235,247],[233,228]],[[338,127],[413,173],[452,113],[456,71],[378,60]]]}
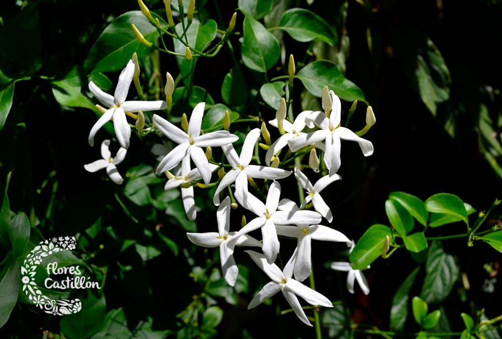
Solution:
{"label": "five-petalled white flower highest at the upper left of the cluster", "polygon": [[120,146],[123,148],[129,147],[129,139],[131,138],[131,127],[126,119],[126,112],[138,111],[153,111],[167,108],[165,101],[126,101],[129,92],[129,86],[133,81],[134,63],[129,60],[126,68],[122,70],[118,77],[117,87],[113,96],[103,92],[92,81],[89,82],[89,90],[94,96],[108,109],[96,121],[89,133],[89,145],[94,145],[94,135],[103,127],[103,125],[113,119],[113,128]]}

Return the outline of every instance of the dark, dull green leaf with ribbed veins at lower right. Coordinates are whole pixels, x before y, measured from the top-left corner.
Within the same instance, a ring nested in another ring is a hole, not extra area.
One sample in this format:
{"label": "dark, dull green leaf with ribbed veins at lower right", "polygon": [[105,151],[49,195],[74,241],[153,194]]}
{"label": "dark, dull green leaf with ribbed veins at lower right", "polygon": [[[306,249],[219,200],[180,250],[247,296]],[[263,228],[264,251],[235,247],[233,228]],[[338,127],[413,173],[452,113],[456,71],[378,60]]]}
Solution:
{"label": "dark, dull green leaf with ribbed veins at lower right", "polygon": [[433,242],[425,264],[426,276],[420,296],[428,303],[442,302],[458,279],[455,257],[444,252],[440,242]]}

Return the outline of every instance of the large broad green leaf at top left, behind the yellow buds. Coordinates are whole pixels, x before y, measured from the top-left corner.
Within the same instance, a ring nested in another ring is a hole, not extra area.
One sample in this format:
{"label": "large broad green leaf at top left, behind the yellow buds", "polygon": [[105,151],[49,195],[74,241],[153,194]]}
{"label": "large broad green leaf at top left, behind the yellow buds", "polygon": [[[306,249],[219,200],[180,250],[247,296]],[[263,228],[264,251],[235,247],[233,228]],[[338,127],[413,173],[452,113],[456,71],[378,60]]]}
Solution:
{"label": "large broad green leaf at top left, behind the yellow buds", "polygon": [[[164,19],[153,12],[152,15],[158,18],[163,26],[167,25]],[[157,29],[150,25],[141,11],[124,13],[104,29],[92,46],[84,62],[87,73],[91,70],[92,73],[119,71],[129,62],[134,52],[138,54],[138,59],[149,53],[150,48],[136,39],[132,24],[152,43],[159,37]]]}

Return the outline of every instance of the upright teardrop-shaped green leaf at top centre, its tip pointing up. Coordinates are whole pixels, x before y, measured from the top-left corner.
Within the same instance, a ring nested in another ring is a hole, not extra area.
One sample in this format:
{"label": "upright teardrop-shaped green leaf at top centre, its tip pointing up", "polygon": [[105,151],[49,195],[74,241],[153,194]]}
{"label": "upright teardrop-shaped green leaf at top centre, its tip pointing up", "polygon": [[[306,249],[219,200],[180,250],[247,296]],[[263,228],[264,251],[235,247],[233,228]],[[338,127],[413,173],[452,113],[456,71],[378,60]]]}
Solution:
{"label": "upright teardrop-shaped green leaf at top centre, its tip pointing up", "polygon": [[248,68],[257,72],[266,72],[279,60],[281,49],[279,42],[260,22],[245,15],[243,24],[242,61]]}

